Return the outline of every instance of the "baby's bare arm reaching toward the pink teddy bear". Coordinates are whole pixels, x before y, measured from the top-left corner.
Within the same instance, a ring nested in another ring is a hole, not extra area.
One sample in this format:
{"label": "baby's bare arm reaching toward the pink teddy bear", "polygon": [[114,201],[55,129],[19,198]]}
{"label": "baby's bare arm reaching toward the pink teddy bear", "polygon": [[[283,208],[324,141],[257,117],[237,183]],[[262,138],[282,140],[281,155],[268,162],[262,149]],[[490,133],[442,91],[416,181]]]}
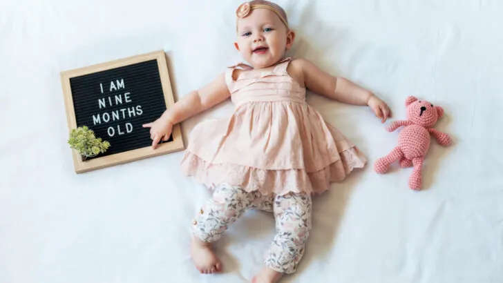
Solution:
{"label": "baby's bare arm reaching toward the pink teddy bear", "polygon": [[319,95],[347,104],[370,106],[383,122],[391,117],[390,108],[384,101],[349,79],[332,76],[305,59],[292,61],[292,68],[301,73],[305,87]]}

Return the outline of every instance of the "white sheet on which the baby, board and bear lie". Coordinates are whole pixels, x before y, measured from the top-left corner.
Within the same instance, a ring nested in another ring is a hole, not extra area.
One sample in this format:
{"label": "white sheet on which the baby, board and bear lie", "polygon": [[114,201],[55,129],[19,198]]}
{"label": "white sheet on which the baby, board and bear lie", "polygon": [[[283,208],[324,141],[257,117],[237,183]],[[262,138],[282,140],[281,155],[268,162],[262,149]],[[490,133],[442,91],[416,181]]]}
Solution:
{"label": "white sheet on which the baby, board and bear lie", "polygon": [[[246,282],[274,219],[249,212],[217,244],[222,275],[189,257],[191,219],[209,196],[182,153],[76,175],[59,72],[163,49],[176,97],[239,59],[239,1],[0,1],[0,282]],[[444,106],[425,190],[410,169],[372,164],[397,133],[365,107],[308,102],[369,159],[314,199],[314,228],[283,282],[503,282],[503,2],[278,1],[297,32],[290,55],[348,77],[404,119],[417,95]],[[189,119],[231,113],[229,102]]]}

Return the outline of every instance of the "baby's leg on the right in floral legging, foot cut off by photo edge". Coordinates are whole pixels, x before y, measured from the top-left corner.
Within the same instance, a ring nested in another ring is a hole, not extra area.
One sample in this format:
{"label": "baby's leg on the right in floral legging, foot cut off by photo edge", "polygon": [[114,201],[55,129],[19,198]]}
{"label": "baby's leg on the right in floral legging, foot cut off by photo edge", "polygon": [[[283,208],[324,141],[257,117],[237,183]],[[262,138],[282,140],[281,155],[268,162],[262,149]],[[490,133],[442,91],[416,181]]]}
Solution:
{"label": "baby's leg on the right in floral legging, foot cut off by photo edge", "polygon": [[253,282],[277,282],[281,275],[296,271],[311,229],[311,205],[311,195],[308,194],[276,196],[276,236],[269,248],[265,268]]}

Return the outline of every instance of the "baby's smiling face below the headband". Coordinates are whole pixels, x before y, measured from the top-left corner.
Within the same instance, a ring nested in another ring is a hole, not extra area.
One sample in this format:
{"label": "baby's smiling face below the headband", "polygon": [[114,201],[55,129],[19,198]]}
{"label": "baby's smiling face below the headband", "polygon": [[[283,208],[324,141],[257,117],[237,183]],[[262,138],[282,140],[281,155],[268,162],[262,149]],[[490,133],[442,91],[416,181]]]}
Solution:
{"label": "baby's smiling face below the headband", "polygon": [[236,48],[254,68],[272,66],[290,49],[294,33],[287,30],[281,19],[268,9],[256,9],[238,19]]}

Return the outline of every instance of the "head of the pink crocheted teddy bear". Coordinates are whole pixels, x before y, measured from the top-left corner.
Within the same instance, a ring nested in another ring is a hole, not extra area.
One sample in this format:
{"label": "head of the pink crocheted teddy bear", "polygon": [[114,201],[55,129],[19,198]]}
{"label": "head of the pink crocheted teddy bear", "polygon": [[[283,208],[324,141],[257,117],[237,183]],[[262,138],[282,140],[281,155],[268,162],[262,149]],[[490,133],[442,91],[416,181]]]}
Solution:
{"label": "head of the pink crocheted teddy bear", "polygon": [[412,123],[430,128],[435,126],[438,119],[444,115],[444,109],[434,106],[426,100],[419,100],[416,97],[407,97],[407,119]]}

